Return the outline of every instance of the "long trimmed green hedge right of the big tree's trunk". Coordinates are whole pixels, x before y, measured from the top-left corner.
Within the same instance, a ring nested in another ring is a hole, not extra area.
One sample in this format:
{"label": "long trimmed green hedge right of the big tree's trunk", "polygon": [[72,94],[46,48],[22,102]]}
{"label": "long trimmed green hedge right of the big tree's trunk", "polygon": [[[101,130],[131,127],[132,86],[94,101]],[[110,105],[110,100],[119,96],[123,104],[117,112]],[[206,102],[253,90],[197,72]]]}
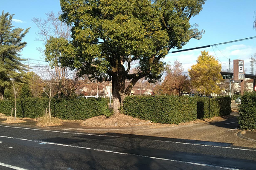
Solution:
{"label": "long trimmed green hedge right of the big tree's trunk", "polygon": [[123,112],[152,122],[179,124],[228,115],[231,113],[230,104],[229,97],[128,96],[123,103]]}

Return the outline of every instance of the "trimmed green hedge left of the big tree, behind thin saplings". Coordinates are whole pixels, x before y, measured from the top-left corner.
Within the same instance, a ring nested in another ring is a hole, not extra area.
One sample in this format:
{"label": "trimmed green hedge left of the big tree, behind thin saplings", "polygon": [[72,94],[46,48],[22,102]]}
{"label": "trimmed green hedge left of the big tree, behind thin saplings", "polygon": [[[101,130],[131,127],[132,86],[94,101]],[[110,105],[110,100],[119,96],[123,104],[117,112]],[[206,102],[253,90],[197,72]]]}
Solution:
{"label": "trimmed green hedge left of the big tree, behind thin saplings", "polygon": [[[11,116],[14,101],[0,101],[0,113]],[[48,98],[26,98],[17,99],[16,104],[17,117],[36,118],[45,114],[45,108],[49,109]],[[52,116],[69,119],[81,120],[88,119],[93,116],[106,115],[111,113],[108,110],[108,102],[104,98],[90,99],[52,99],[51,100]]]}

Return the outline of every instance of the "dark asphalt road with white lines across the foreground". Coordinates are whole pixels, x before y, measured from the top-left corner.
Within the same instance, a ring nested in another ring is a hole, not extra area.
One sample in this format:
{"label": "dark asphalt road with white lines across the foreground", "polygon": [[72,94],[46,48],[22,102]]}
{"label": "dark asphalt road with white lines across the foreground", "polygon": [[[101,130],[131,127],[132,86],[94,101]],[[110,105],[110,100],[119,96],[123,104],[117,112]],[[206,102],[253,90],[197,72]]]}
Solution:
{"label": "dark asphalt road with white lines across the foreground", "polygon": [[0,170],[255,170],[256,149],[0,125]]}

